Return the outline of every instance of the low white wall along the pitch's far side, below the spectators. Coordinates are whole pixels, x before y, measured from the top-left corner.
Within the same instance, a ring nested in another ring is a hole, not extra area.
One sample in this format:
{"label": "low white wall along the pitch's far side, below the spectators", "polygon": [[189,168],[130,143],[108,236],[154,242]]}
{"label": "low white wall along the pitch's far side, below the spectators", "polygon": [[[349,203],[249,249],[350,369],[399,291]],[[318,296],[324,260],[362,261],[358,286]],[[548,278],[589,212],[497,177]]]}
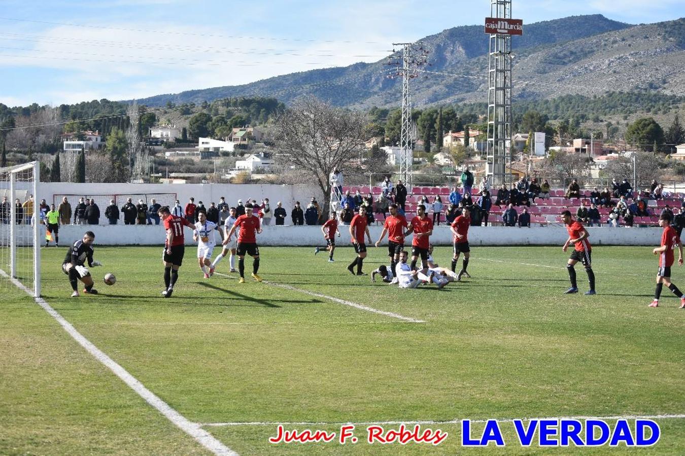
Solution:
{"label": "low white wall along the pitch's far side, below the spectators", "polygon": [[[161,225],[67,225],[60,228],[60,244],[69,245],[80,239],[86,230],[95,232],[96,245],[161,245],[164,228]],[[338,245],[350,245],[349,227],[340,226]],[[371,226],[375,242],[382,226]],[[661,228],[588,228],[593,245],[659,245]],[[217,234],[218,235],[218,234]],[[563,245],[568,238],[560,226],[516,228],[503,226],[475,227],[469,230],[471,245]],[[42,238],[41,238],[42,239]],[[218,238],[217,238],[218,239]],[[438,226],[431,237],[434,245],[451,245],[449,227]],[[321,226],[264,226],[257,236],[260,245],[324,245]],[[192,245],[190,229],[186,229],[186,244]],[[387,244],[387,239],[384,245]]]}

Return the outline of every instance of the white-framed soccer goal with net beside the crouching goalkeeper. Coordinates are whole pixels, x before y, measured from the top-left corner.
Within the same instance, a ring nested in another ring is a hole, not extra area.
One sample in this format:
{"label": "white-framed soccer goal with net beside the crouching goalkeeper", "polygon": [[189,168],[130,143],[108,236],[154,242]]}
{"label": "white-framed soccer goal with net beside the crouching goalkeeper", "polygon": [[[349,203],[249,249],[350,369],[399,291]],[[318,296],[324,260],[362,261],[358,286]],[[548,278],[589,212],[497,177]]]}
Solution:
{"label": "white-framed soccer goal with net beside the crouching goalkeeper", "polygon": [[40,296],[40,163],[0,168],[0,293],[10,287]]}

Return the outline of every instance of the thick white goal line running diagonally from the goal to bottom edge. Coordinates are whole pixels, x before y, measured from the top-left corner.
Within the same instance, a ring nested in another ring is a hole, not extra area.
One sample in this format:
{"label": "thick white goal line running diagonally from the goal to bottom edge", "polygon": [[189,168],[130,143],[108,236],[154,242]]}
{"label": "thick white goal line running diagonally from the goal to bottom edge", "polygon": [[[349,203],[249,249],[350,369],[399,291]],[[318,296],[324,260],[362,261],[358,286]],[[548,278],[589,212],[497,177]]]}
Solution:
{"label": "thick white goal line running diagonally from the goal to bottom edge", "polygon": [[[21,282],[14,278],[10,278],[5,271],[0,269],[0,275],[4,276],[6,278],[9,278],[12,283],[14,283],[19,289],[25,291],[28,295],[32,295],[32,291],[27,289]],[[126,371],[125,368],[121,367],[119,364],[117,364],[112,358],[109,356],[105,355],[103,351],[101,351],[99,348],[95,347],[93,343],[90,342],[90,340],[86,339],[81,333],[79,333],[75,327],[69,321],[66,321],[60,313],[53,309],[49,304],[47,304],[47,301],[45,299],[42,299],[41,297],[36,297],[34,298],[38,306],[42,307],[47,313],[53,317],[53,319],[57,320],[60,325],[64,328],[66,332],[69,333],[69,335],[79,343],[88,353],[90,353],[95,359],[97,359],[99,362],[104,364],[110,371],[114,373],[117,377],[122,379],[125,384],[127,384],[132,390],[134,390],[138,396],[142,397],[142,399],[145,399],[149,405],[154,407],[155,409],[158,410],[162,415],[166,416],[166,418],[171,421],[174,425],[179,427],[182,431],[190,435],[192,438],[197,440],[199,444],[207,448],[209,451],[214,453],[214,455],[217,456],[238,456],[238,453],[235,451],[232,451],[230,448],[225,446],[223,443],[219,442],[219,440],[216,440],[214,436],[204,429],[202,429],[201,425],[198,423],[192,423],[188,418],[183,416],[182,414],[179,414],[176,410],[174,410],[169,404],[166,402],[162,401],[160,397],[158,397],[156,394],[145,388],[145,386],[136,379],[133,375],[129,374],[128,371]]]}

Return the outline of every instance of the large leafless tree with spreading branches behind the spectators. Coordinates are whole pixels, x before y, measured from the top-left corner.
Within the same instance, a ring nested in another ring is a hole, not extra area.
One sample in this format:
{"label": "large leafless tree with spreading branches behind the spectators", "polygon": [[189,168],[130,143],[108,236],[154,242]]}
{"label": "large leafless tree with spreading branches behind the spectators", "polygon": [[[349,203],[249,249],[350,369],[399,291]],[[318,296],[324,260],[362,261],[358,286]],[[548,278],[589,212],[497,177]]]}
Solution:
{"label": "large leafless tree with spreading branches behind the spectators", "polygon": [[338,109],[313,97],[297,100],[275,119],[276,158],[314,180],[328,204],[333,170],[362,171],[366,124],[365,113]]}

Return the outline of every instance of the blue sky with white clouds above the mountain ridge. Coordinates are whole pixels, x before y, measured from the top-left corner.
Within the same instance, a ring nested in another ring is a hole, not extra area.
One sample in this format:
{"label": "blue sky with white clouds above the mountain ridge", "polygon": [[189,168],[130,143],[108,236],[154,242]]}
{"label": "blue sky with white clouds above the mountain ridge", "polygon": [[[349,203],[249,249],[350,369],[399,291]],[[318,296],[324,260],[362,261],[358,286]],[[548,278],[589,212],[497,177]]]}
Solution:
{"label": "blue sky with white clouds above the mountain ridge", "polygon": [[[669,21],[685,0],[514,0],[525,23]],[[392,42],[482,24],[490,1],[17,1],[0,10],[0,103],[77,103],[375,62]],[[485,39],[485,36],[484,36]]]}

